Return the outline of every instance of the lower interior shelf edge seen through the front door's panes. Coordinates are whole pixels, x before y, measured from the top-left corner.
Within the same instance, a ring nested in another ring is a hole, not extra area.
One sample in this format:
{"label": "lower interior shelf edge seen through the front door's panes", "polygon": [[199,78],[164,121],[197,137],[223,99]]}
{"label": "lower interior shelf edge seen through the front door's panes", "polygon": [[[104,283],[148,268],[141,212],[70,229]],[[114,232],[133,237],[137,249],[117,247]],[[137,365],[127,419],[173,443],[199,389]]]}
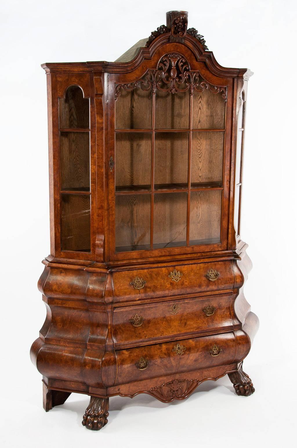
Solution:
{"label": "lower interior shelf edge seen through the front door's panes", "polygon": [[[170,193],[187,191],[188,184],[157,184],[154,185],[153,193]],[[223,190],[222,182],[200,182],[192,183],[191,191],[199,190]],[[151,185],[128,185],[116,186],[115,194],[145,194],[152,193]]]}

